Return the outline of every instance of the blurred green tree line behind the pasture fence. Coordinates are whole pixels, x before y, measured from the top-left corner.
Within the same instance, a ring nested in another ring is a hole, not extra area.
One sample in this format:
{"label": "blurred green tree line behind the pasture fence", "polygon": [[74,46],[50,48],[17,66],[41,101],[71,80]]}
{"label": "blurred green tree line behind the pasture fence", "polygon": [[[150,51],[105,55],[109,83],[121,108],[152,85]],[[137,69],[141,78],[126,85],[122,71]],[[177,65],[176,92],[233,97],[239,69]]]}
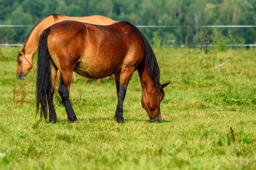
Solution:
{"label": "blurred green tree line behind the pasture fence", "polygon": [[[256,0],[0,0],[0,24],[35,25],[50,14],[103,15],[134,25],[192,26],[140,28],[158,45],[254,43],[256,28],[201,28],[256,25]],[[32,28],[0,28],[0,43],[23,43]],[[221,42],[220,42],[221,41]]]}

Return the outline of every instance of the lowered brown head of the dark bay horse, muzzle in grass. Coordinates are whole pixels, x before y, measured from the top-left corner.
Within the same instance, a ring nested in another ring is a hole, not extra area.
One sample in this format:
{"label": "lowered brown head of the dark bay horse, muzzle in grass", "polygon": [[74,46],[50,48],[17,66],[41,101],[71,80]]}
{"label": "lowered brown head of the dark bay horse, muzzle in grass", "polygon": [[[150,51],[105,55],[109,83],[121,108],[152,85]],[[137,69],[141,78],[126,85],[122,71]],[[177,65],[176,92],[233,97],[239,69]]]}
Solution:
{"label": "lowered brown head of the dark bay horse, muzzle in grass", "polygon": [[148,116],[150,117],[150,122],[161,122],[161,113],[160,113],[160,103],[164,98],[165,88],[170,83],[165,83],[160,85],[160,90],[156,89],[148,89],[143,91],[141,105],[148,112]]}

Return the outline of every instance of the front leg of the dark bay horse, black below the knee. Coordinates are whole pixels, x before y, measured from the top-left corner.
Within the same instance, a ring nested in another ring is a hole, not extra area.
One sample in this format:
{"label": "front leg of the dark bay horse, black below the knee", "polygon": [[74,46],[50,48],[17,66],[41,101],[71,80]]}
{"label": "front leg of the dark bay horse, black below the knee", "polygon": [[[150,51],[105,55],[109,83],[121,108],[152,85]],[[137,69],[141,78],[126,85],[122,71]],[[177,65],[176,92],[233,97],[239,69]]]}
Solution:
{"label": "front leg of the dark bay horse, black below the knee", "polygon": [[119,123],[124,122],[123,103],[125,100],[126,89],[133,73],[134,68],[126,68],[125,70],[122,70],[120,74],[115,74],[116,93],[118,97],[115,118]]}

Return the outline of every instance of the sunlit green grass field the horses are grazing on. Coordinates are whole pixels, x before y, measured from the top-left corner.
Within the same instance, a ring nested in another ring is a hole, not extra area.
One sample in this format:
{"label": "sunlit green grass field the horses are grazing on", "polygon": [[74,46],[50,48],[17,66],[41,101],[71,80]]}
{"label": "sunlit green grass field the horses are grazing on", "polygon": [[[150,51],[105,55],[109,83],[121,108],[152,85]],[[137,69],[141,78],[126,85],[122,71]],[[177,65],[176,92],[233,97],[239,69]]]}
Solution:
{"label": "sunlit green grass field the horses are grazing on", "polygon": [[135,72],[125,123],[114,119],[115,83],[78,76],[70,97],[79,121],[67,122],[55,95],[52,124],[35,115],[36,74],[16,79],[16,49],[0,48],[0,169],[256,169],[256,49],[154,51],[161,83],[171,83],[162,123],[148,121]]}

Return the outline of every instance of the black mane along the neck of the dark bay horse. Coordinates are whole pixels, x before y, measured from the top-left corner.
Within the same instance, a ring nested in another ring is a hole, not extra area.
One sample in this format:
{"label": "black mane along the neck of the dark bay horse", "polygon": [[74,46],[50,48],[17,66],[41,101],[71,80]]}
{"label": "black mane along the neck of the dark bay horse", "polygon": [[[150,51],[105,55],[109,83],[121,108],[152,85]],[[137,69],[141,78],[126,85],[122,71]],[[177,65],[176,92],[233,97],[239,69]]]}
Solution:
{"label": "black mane along the neck of the dark bay horse", "polygon": [[145,59],[145,66],[148,67],[149,71],[149,77],[150,79],[154,80],[155,86],[158,92],[162,92],[164,95],[164,91],[162,88],[160,88],[160,69],[157,64],[157,59],[155,57],[154,51],[151,48],[151,45],[149,44],[148,40],[145,38],[144,34],[137,28],[136,26],[132,25],[128,22],[123,22],[124,25],[130,25],[132,26],[132,31],[137,31],[140,33],[142,39],[143,39],[143,50],[144,50],[144,59]]}

